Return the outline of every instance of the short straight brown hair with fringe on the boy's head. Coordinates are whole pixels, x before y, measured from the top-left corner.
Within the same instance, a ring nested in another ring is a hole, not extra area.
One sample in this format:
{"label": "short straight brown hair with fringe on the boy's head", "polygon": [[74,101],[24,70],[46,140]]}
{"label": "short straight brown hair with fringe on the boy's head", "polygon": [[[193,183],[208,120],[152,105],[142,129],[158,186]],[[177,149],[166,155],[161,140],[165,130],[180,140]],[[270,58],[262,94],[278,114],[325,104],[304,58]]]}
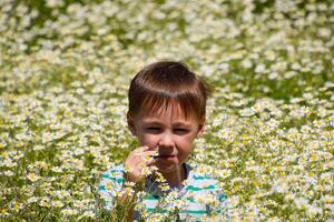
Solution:
{"label": "short straight brown hair with fringe on the boy's head", "polygon": [[186,119],[195,114],[200,120],[205,118],[210,91],[208,84],[184,63],[155,62],[140,70],[130,83],[129,114],[158,113],[170,104],[179,104]]}

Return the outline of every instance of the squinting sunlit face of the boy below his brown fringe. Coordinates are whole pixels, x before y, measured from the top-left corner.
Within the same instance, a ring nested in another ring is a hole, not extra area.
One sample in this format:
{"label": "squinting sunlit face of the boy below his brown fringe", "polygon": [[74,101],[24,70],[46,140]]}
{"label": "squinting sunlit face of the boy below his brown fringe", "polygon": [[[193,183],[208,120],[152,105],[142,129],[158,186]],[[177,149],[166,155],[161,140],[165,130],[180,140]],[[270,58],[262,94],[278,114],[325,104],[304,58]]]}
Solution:
{"label": "squinting sunlit face of the boy below his brown fringe", "polygon": [[156,165],[160,172],[176,171],[190,154],[194,139],[204,131],[204,119],[185,119],[176,104],[169,105],[160,114],[141,113],[135,118],[128,114],[127,118],[129,129],[138,138],[140,147],[147,145],[150,150],[158,148]]}

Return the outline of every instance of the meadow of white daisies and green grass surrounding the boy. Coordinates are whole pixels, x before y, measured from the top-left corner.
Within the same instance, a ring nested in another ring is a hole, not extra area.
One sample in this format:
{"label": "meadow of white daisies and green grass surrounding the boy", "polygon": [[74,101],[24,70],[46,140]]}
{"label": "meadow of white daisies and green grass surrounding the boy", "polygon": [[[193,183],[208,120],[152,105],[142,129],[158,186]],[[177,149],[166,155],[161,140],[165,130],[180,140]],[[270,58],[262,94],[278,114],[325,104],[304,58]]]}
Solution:
{"label": "meadow of white daisies and green grass surrounding the boy", "polygon": [[127,90],[159,60],[213,88],[189,163],[230,221],[333,220],[333,1],[1,0],[0,221],[110,220],[100,174],[137,148]]}

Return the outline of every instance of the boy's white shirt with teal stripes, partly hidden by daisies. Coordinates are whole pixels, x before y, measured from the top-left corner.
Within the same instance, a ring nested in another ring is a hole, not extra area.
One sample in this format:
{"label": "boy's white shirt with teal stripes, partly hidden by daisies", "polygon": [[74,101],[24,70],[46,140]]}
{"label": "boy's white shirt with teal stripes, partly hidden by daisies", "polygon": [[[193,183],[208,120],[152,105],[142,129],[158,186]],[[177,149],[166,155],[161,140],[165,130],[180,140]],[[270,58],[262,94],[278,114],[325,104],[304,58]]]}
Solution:
{"label": "boy's white shirt with teal stripes, partly hidden by daisies", "polygon": [[[227,199],[223,194],[220,188],[218,188],[218,181],[212,176],[208,176],[205,172],[213,171],[210,167],[197,165],[193,169],[190,165],[184,163],[183,168],[186,171],[187,179],[184,182],[185,186],[176,189],[177,196],[170,204],[179,203],[180,210],[178,211],[178,218],[183,221],[202,221],[204,216],[216,215],[217,221],[225,220],[225,209],[227,206]],[[102,173],[102,179],[98,185],[98,191],[105,201],[106,209],[110,210],[112,201],[115,200],[117,191],[122,189],[122,175],[125,169],[122,164],[119,164]],[[164,209],[160,206],[160,199],[166,196],[161,195],[158,183],[151,181],[149,178],[145,181],[144,192],[146,195],[138,202],[143,202],[146,212],[166,213],[170,205],[166,205]],[[171,190],[169,191],[171,192]],[[178,201],[178,202],[177,202]],[[140,212],[135,211],[134,220],[139,218]]]}

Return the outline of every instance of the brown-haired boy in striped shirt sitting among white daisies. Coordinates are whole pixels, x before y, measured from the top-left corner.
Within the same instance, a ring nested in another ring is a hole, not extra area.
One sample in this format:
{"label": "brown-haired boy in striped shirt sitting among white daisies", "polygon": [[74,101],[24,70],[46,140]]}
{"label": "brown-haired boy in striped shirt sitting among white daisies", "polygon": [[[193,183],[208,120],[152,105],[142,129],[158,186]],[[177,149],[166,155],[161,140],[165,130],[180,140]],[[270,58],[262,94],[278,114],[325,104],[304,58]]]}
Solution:
{"label": "brown-haired boy in striped shirt sitting among white daisies", "polygon": [[[193,141],[204,131],[208,94],[208,87],[180,62],[156,62],[136,74],[128,92],[127,121],[140,148],[131,151],[124,164],[102,173],[99,192],[107,209],[112,209],[115,214],[115,209],[130,202],[126,215],[130,221],[154,212],[164,193],[177,191],[173,199],[174,204],[181,204],[176,212],[177,220],[222,216],[225,196],[218,181],[204,172],[210,168],[193,169],[186,163]],[[161,189],[157,176],[145,176],[145,167],[156,167],[169,189]],[[144,211],[136,211],[138,196],[121,192],[125,184],[135,184],[147,194],[141,200]],[[164,216],[168,211],[159,212]]]}

